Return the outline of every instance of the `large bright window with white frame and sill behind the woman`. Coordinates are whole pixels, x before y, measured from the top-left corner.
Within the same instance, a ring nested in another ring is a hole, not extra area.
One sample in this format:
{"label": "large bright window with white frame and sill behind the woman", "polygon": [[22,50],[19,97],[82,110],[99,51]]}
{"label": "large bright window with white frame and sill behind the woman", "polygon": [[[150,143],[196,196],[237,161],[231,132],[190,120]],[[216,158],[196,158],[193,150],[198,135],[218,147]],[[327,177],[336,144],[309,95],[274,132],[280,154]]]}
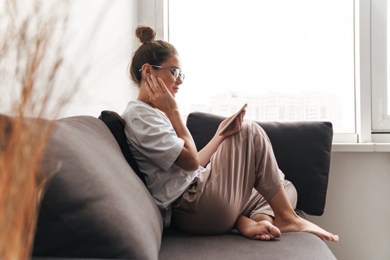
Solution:
{"label": "large bright window with white frame and sill behind the woman", "polygon": [[333,143],[366,143],[336,151],[390,150],[387,0],[144,1],[155,3],[144,14],[157,37],[181,56],[183,118],[195,110],[229,115],[234,100],[245,100],[249,119],[329,120]]}

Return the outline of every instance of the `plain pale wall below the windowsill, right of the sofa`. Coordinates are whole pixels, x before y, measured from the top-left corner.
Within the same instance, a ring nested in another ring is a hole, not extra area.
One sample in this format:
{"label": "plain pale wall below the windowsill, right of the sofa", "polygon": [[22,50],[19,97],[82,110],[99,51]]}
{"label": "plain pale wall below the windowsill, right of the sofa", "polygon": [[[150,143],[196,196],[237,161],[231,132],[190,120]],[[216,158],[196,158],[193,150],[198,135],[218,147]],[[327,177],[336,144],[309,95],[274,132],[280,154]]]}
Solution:
{"label": "plain pale wall below the windowsill, right of the sofa", "polygon": [[389,260],[390,152],[332,152],[325,212],[308,220],[339,235],[339,260]]}

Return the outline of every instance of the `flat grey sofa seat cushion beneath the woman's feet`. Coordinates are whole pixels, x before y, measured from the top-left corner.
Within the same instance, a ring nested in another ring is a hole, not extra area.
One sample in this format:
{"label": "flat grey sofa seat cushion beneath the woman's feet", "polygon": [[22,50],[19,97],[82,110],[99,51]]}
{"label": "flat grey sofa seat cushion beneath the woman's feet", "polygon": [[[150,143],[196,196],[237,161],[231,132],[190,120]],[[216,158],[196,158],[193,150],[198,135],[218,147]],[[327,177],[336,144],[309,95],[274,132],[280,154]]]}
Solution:
{"label": "flat grey sofa seat cushion beneath the woman's feet", "polygon": [[165,229],[159,259],[289,259],[335,260],[324,241],[309,233],[284,233],[275,241],[257,241],[239,234],[196,236]]}

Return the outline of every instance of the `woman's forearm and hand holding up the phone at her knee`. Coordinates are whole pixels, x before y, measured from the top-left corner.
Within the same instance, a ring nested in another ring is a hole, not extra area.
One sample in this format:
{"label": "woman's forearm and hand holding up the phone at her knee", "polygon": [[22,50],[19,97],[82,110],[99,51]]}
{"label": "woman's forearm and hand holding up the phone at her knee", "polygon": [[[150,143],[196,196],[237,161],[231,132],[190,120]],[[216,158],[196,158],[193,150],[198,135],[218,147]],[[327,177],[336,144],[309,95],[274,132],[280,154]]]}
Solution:
{"label": "woman's forearm and hand holding up the phone at her knee", "polygon": [[241,130],[244,116],[245,116],[245,110],[243,110],[234,119],[234,123],[222,135],[219,135],[218,133],[220,132],[220,130],[222,130],[222,128],[230,121],[233,115],[226,118],[224,121],[222,121],[222,123],[219,125],[218,130],[216,131],[211,141],[198,152],[200,166],[205,167],[210,162],[211,156],[215,153],[219,145],[226,137],[235,134]]}

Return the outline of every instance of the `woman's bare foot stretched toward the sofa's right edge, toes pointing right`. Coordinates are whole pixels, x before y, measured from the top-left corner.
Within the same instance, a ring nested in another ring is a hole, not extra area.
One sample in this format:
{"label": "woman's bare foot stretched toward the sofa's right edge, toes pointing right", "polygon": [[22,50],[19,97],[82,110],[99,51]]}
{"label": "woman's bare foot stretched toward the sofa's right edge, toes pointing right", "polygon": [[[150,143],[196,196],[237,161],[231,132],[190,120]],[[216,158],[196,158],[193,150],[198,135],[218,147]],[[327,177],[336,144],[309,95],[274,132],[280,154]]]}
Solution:
{"label": "woman's bare foot stretched toward the sofa's right edge, toes pointing right", "polygon": [[307,232],[318,236],[321,239],[337,242],[338,236],[329,233],[328,231],[320,228],[316,224],[313,224],[296,214],[288,219],[275,218],[273,224],[279,228],[280,232]]}

